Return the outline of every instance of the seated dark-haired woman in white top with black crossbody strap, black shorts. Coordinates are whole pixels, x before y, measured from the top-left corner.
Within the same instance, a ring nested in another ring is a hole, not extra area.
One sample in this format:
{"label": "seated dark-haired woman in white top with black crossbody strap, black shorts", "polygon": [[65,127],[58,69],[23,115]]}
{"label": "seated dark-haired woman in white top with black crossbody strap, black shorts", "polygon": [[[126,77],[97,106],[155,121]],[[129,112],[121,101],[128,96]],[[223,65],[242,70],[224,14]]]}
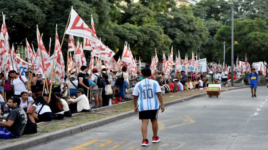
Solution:
{"label": "seated dark-haired woman in white top with black crossbody strap, black shorts", "polygon": [[[34,113],[34,111],[36,113]],[[35,120],[39,120],[40,122],[52,120],[52,112],[42,96],[36,97],[31,110],[27,111],[26,114],[32,123],[36,123]]]}

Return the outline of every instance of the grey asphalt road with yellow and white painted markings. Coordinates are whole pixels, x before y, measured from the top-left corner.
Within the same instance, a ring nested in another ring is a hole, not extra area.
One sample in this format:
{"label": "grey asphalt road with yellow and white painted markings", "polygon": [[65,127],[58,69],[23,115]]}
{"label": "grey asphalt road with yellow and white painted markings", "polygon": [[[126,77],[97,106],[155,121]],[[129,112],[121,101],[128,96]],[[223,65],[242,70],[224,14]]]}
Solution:
{"label": "grey asphalt road with yellow and white painted markings", "polygon": [[[266,87],[257,89],[256,98],[251,98],[248,88],[167,106],[158,117],[161,141],[147,147],[141,147],[141,121],[134,115],[30,150],[267,150],[266,97]],[[148,139],[152,140],[150,123]]]}

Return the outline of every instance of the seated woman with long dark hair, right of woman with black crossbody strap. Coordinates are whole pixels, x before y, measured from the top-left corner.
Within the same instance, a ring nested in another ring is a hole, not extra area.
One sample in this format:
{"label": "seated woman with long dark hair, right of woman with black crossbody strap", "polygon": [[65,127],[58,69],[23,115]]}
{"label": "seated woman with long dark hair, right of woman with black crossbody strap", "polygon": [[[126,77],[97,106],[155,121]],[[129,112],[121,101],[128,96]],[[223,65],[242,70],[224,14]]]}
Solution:
{"label": "seated woman with long dark hair, right of woman with black crossbody strap", "polygon": [[63,104],[54,93],[51,93],[49,107],[52,111],[53,119],[61,120],[64,118]]}

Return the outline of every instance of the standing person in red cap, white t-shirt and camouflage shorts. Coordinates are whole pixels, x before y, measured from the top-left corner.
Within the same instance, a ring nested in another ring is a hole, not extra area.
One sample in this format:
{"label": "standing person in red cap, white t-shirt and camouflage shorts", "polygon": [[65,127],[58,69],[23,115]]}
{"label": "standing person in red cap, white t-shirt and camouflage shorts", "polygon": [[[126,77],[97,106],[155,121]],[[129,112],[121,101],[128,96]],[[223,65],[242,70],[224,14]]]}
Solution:
{"label": "standing person in red cap, white t-shirt and camouflage shorts", "polygon": [[[92,75],[91,80],[97,84],[98,77],[101,76],[101,75],[98,73],[98,69],[97,68],[93,68],[92,69],[92,72],[94,74]],[[92,109],[102,107],[102,88],[99,88],[98,86],[94,86],[92,88],[91,95],[92,95],[92,97],[94,97],[94,101],[95,101],[95,106],[92,107]],[[99,102],[99,106],[98,106],[98,102]]]}

